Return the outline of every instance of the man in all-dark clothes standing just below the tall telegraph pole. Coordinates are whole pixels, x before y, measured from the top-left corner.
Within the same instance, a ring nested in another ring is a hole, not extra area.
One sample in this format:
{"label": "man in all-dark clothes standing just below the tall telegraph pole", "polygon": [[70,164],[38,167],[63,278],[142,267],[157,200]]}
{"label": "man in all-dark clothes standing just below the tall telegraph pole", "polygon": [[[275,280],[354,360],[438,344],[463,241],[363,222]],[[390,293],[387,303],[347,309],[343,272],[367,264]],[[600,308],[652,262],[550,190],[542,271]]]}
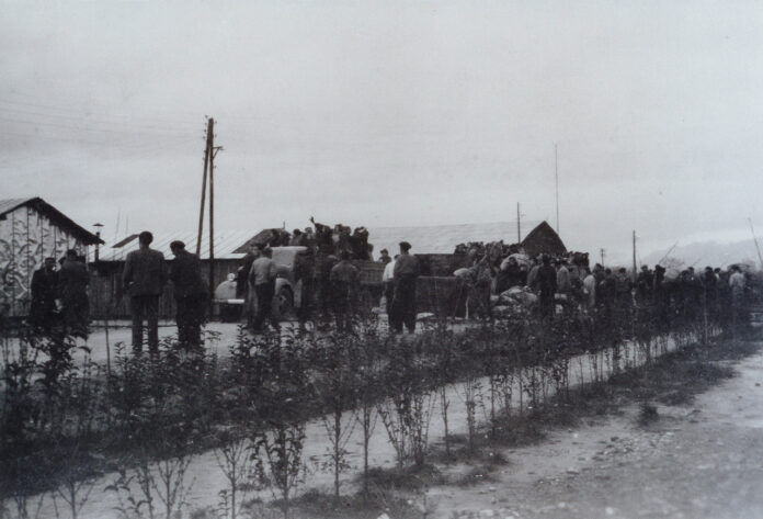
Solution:
{"label": "man in all-dark clothes standing just below the tall telegraph pole", "polygon": [[170,250],[174,255],[170,267],[170,281],[174,285],[178,311],[178,342],[187,351],[200,349],[208,292],[202,279],[202,262],[198,256],[185,250],[185,244],[180,240],[172,241]]}

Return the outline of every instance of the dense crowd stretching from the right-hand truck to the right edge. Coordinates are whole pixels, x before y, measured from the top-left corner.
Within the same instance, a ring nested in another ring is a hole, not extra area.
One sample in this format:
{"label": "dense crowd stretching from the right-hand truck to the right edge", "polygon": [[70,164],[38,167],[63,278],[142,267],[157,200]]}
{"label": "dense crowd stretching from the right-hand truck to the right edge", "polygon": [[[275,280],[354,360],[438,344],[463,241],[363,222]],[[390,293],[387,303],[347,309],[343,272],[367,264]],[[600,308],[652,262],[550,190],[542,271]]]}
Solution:
{"label": "dense crowd stretching from the right-hand truck to the right edge", "polygon": [[456,277],[467,286],[470,315],[485,319],[491,319],[517,287],[532,294],[524,301],[540,318],[577,309],[604,319],[649,319],[656,326],[702,316],[728,327],[749,316],[752,278],[737,264],[702,272],[693,267],[669,272],[660,264],[642,266],[634,275],[625,268],[590,268],[588,256],[576,252],[535,258],[514,252],[499,259],[471,253],[469,263]]}

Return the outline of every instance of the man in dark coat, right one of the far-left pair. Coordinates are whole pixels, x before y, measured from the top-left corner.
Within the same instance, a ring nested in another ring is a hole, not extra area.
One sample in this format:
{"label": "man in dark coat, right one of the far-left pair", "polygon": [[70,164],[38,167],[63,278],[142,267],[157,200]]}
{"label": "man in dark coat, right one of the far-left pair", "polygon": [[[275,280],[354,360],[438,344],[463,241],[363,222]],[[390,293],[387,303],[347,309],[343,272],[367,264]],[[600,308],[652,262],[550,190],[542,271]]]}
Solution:
{"label": "man in dark coat, right one of the far-left pair", "polygon": [[58,292],[64,306],[66,330],[75,337],[88,338],[89,306],[88,268],[77,258],[77,251],[69,249],[58,274]]}

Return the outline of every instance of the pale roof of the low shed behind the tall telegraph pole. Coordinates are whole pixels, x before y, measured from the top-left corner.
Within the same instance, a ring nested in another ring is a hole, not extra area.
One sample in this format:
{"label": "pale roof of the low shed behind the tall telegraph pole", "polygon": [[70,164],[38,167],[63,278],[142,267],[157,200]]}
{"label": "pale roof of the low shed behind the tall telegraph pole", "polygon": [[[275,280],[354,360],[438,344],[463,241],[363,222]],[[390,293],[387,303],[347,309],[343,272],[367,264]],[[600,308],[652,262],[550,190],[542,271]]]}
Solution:
{"label": "pale roof of the low shed behind the tall telegraph pole", "polygon": [[[107,241],[99,251],[99,257],[102,261],[121,261],[127,257],[128,252],[137,250],[139,247],[138,239],[127,236],[117,236],[116,239]],[[137,236],[137,235],[136,235]],[[242,242],[252,237],[251,230],[220,230],[215,232],[215,259],[239,259],[243,255],[234,253]],[[186,230],[180,233],[153,233],[153,241],[151,248],[160,251],[167,259],[172,259],[170,244],[174,240],[181,240],[185,244],[185,249],[190,252],[196,252],[196,232]],[[209,234],[205,233],[202,237],[202,259],[209,258]]]}

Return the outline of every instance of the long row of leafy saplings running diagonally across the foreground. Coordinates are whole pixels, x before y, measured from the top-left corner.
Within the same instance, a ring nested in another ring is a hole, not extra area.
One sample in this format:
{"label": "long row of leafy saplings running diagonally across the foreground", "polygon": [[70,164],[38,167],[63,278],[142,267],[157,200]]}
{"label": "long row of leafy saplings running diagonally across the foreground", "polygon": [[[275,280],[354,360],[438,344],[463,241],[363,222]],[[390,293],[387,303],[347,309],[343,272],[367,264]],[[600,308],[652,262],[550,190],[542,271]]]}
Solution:
{"label": "long row of leafy saplings running diagonally across the foreground", "polygon": [[[357,334],[252,337],[241,330],[225,359],[186,353],[168,339],[157,356],[119,349],[110,372],[93,362],[75,363],[72,340],[4,337],[0,463],[7,469],[0,497],[7,510],[24,517],[29,495],[49,492],[76,518],[96,475],[117,471],[121,477],[110,489],[124,517],[171,517],[187,492],[189,460],[215,449],[229,482],[220,494],[221,517],[237,517],[242,494],[261,486],[274,492],[288,515],[305,475],[309,419],[324,425],[323,469],[334,474],[339,496],[355,427],[364,439],[365,475],[377,420],[399,466],[423,464],[435,406],[449,451],[445,388],[460,382],[471,445],[478,407],[488,409],[494,424],[511,407],[516,383],[520,397],[524,393],[536,405],[549,388],[563,394],[569,387],[574,356],[595,359],[611,351],[610,362],[617,365],[626,338],[651,352],[665,329],[645,318],[652,315],[647,311],[573,309],[543,320],[517,315],[460,332],[436,321],[406,339],[383,332],[372,318],[358,319]],[[698,337],[705,326],[701,319],[674,319],[670,330],[679,338]],[[207,334],[207,341],[218,339]]]}

